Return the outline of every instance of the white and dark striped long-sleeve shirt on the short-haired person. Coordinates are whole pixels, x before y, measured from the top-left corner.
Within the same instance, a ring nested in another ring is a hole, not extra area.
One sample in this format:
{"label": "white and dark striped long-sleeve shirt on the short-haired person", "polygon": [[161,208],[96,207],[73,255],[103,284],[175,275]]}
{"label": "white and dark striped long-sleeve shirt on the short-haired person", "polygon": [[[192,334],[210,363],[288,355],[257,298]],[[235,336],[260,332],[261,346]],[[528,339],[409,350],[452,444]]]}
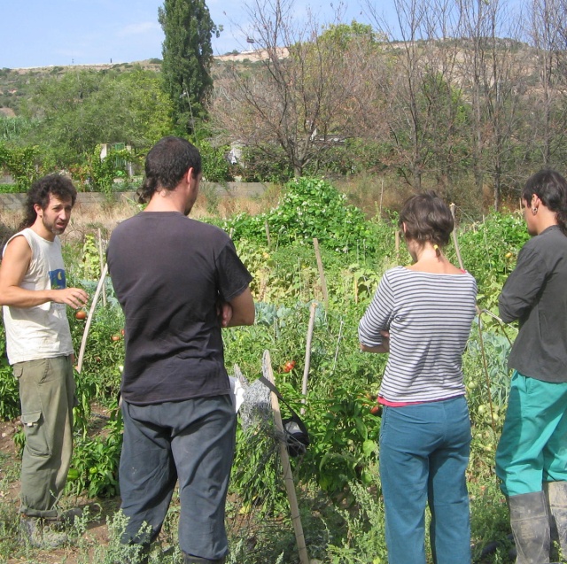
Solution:
{"label": "white and dark striped long-sleeve shirt on the short-haired person", "polygon": [[382,344],[380,331],[390,331],[380,396],[427,402],[465,393],[462,352],[476,297],[477,282],[468,273],[386,271],[359,325],[361,344],[367,346]]}

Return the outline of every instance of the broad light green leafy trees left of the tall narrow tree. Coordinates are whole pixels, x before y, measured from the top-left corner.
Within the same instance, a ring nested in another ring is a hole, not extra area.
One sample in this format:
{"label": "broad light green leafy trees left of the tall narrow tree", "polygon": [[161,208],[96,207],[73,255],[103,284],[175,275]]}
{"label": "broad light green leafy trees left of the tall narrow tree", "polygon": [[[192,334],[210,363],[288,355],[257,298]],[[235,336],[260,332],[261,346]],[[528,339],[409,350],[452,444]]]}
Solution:
{"label": "broad light green leafy trees left of the tall narrow tree", "polygon": [[171,104],[159,75],[79,71],[37,81],[25,114],[32,119],[20,143],[36,144],[58,166],[85,161],[97,143],[144,150],[171,131]]}

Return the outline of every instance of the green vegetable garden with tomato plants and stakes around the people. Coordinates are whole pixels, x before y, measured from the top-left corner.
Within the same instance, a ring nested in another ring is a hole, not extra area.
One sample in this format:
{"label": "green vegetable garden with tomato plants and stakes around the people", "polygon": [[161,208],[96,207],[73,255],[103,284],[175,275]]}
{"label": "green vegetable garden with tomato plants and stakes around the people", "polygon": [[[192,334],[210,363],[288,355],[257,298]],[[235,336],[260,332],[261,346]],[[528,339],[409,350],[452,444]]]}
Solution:
{"label": "green vegetable garden with tomato plants and stakes around the people", "polygon": [[[332,564],[386,562],[384,507],[377,471],[380,418],[373,409],[386,356],[359,351],[357,326],[384,270],[410,260],[403,244],[397,248],[395,213],[387,220],[368,220],[330,183],[302,178],[290,182],[279,203],[267,212],[210,221],[232,236],[253,275],[255,324],[223,332],[229,374],[237,365],[253,382],[261,375],[262,355],[268,350],[283,397],[298,413],[305,409],[302,419],[311,444],[307,452],[292,460],[292,470],[309,557]],[[527,238],[524,220],[516,213],[493,214],[477,223],[463,221],[458,228],[462,260],[477,278],[478,306],[484,312],[473,324],[464,354],[473,423],[468,471],[473,554],[482,562],[512,561],[508,511],[498,490],[493,460],[507,403],[506,360],[517,330],[502,327],[494,315],[502,283]],[[101,275],[97,234],[93,230],[80,242],[66,243],[64,252],[67,283],[84,288],[92,297]],[[456,263],[454,247],[447,252]],[[117,406],[124,355],[123,316],[108,278],[103,297],[89,320],[81,372],[76,373],[79,405],[75,409],[75,451],[64,503],[71,505],[81,498],[92,506],[107,508],[108,542],[89,540],[86,517],[77,525],[74,560],[67,560],[69,553],[64,553],[59,555],[63,558],[60,561],[123,560],[118,542],[123,519],[115,511],[119,495],[121,421]],[[312,311],[315,315],[307,354]],[[86,321],[75,319],[71,310],[68,314],[78,352]],[[0,367],[0,417],[7,421],[19,416],[19,398],[12,369],[5,360],[4,328],[0,347],[4,359]],[[307,358],[304,397],[301,390]],[[22,438],[17,433],[16,444],[21,445]],[[2,466],[7,467],[11,461],[0,456]],[[12,464],[12,473],[0,474],[0,491],[17,475],[18,463]],[[3,502],[2,506],[0,561],[48,561],[42,560],[45,554],[19,544],[17,505]],[[177,518],[174,505],[151,552],[151,562],[181,561],[176,548]],[[228,562],[299,562],[277,445],[269,433],[238,427],[228,526]],[[487,550],[487,545],[492,550]]]}

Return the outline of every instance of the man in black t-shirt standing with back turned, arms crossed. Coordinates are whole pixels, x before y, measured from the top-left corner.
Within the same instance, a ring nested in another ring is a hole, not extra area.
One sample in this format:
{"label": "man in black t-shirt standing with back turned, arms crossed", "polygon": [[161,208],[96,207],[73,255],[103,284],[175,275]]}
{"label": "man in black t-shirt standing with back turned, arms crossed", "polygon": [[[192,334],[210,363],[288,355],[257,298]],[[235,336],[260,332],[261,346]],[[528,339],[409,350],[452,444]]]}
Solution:
{"label": "man in black t-shirt standing with back turned, arms crossed", "polygon": [[228,551],[236,414],[221,328],[254,321],[252,276],[229,236],[186,217],[200,178],[198,150],[178,137],[161,139],[146,157],[139,191],[149,204],[114,229],[107,253],[126,317],[123,541],[148,550],[179,480],[186,564],[224,562]]}

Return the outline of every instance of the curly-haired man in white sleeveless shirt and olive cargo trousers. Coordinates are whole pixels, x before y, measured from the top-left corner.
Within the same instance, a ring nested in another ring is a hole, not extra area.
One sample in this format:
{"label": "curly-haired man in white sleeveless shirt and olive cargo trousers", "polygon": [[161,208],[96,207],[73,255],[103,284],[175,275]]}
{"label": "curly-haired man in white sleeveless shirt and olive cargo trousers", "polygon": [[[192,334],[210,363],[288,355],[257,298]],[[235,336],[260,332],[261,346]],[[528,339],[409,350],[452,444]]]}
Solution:
{"label": "curly-haired man in white sleeveless shirt and olive cargo trousers", "polygon": [[6,351],[19,381],[26,446],[21,463],[21,524],[32,545],[66,540],[46,523],[58,521],[73,452],[73,343],[66,305],[88,295],[66,287],[61,235],[76,199],[73,183],[49,174],[27,193],[21,230],[6,243],[0,267]]}

